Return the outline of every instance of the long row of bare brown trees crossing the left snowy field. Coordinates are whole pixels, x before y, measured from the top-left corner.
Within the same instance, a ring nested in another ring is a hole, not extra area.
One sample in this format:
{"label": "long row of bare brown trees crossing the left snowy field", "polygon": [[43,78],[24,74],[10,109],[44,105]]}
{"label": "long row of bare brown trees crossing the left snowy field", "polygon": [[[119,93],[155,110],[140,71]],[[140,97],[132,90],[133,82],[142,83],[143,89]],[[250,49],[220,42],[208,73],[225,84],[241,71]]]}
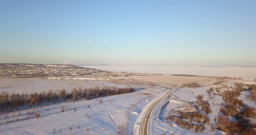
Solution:
{"label": "long row of bare brown trees crossing the left snowy field", "polygon": [[20,109],[28,109],[36,106],[45,106],[53,103],[62,103],[66,101],[82,100],[82,99],[92,99],[102,96],[110,96],[117,94],[124,94],[134,92],[135,89],[131,87],[117,88],[117,87],[91,87],[82,89],[73,89],[72,92],[66,92],[66,90],[53,91],[48,90],[41,93],[31,93],[31,94],[0,94],[0,110],[1,112],[10,112]]}

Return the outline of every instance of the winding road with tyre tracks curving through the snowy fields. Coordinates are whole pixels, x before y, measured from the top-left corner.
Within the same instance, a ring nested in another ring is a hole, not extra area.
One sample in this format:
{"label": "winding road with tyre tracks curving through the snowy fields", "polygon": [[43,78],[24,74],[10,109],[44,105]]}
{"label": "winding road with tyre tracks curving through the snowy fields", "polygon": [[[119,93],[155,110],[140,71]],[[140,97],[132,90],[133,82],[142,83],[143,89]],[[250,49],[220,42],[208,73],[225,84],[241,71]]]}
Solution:
{"label": "winding road with tyre tracks curving through the snowy fields", "polygon": [[150,103],[150,105],[147,107],[147,109],[141,119],[140,135],[148,135],[148,127],[149,127],[150,117],[154,111],[154,108],[158,105],[158,103],[160,103],[162,100],[164,100],[171,93],[172,90],[176,90],[178,88],[179,88],[179,86],[168,90],[162,96],[160,96],[158,99],[156,99]]}

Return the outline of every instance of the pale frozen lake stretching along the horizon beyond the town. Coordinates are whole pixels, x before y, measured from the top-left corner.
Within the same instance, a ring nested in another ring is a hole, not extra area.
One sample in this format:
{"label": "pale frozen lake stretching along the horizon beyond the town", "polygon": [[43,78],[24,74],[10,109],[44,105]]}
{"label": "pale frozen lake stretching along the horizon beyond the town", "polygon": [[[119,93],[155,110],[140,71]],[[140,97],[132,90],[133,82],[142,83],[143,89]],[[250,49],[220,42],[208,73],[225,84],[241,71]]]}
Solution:
{"label": "pale frozen lake stretching along the horizon beyond the town", "polygon": [[108,71],[256,78],[256,67],[82,66]]}

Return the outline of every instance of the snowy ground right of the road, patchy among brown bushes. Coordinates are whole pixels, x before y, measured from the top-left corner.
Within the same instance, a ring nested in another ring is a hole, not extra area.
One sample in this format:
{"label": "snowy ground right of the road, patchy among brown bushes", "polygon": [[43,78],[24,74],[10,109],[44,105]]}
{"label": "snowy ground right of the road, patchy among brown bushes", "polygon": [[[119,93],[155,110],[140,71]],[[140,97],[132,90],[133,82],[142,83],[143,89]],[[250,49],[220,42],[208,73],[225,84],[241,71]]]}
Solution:
{"label": "snowy ground right of the road, patchy among brown bushes", "polygon": [[[256,84],[255,81],[250,80],[227,80],[226,82],[222,83],[227,85],[228,87],[234,87],[234,83],[247,83],[247,84]],[[162,119],[159,120],[158,116],[160,113],[161,106],[164,105],[164,103],[167,102],[165,100],[162,102],[158,108],[156,108],[156,111],[153,113],[153,118],[151,118],[151,125],[150,125],[150,132],[151,135],[162,135],[163,133],[165,135],[222,135],[225,134],[225,132],[222,132],[220,130],[215,129],[213,132],[211,131],[210,125],[206,125],[206,129],[203,132],[194,132],[193,129],[186,129],[181,128],[181,126],[177,125],[175,122],[168,122],[166,120],[167,116],[169,115],[170,111],[173,111],[173,109],[185,109],[189,105],[189,102],[195,102],[197,100],[197,95],[203,95],[203,100],[209,100],[210,103],[210,109],[212,110],[212,113],[209,113],[207,116],[210,119],[210,124],[214,124],[214,118],[217,117],[218,114],[220,114],[220,107],[221,103],[223,103],[222,96],[216,95],[213,99],[210,99],[208,96],[207,90],[210,89],[210,87],[216,88],[221,87],[220,84],[214,85],[214,84],[203,84],[203,87],[196,87],[196,88],[188,88],[188,87],[182,87],[177,90],[174,90],[171,92],[171,95],[167,100],[170,100],[170,103],[167,105],[167,107],[164,109],[162,114]],[[222,90],[227,90],[223,88]],[[248,96],[249,91],[243,91],[241,92],[241,95],[237,98],[239,100],[242,100],[244,104],[248,105],[249,107],[255,107],[256,104],[255,101],[249,101],[246,97]],[[256,122],[256,119],[253,119],[253,122]]]}

